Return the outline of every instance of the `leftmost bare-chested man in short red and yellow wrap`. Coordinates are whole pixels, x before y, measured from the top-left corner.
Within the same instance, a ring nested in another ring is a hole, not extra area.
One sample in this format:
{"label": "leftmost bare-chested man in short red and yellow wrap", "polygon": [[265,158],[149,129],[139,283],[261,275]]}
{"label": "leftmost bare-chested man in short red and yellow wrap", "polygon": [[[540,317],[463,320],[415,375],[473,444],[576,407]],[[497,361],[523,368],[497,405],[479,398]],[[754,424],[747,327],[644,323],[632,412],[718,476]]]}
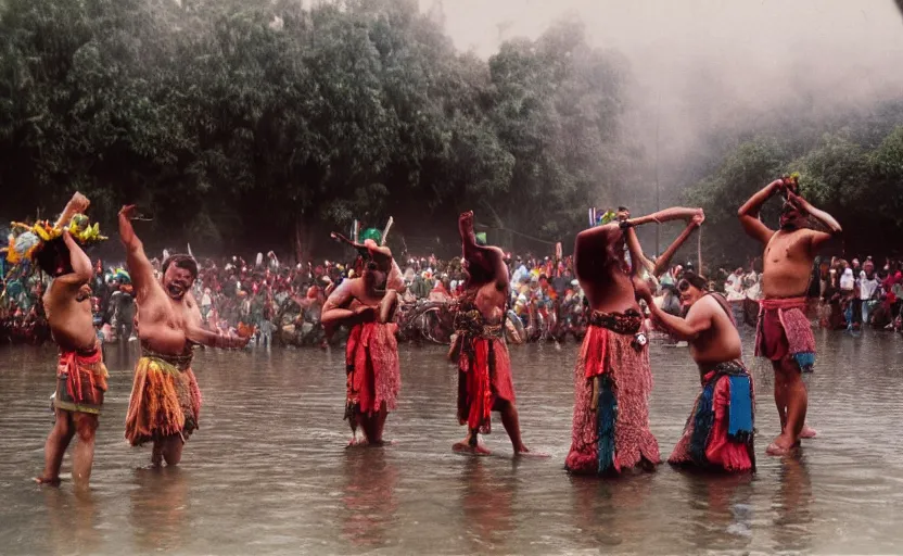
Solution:
{"label": "leftmost bare-chested man in short red and yellow wrap", "polygon": [[56,424],[47,438],[43,473],[35,479],[39,483],[60,483],[63,455],[76,434],[72,477],[77,485],[88,484],[94,462],[94,434],[107,374],[91,315],[91,261],[65,228],[88,205],[88,199],[75,193],[56,223],[64,229],[62,239],[44,243],[35,256],[38,266],[53,277],[43,306],[60,348],[53,399]]}

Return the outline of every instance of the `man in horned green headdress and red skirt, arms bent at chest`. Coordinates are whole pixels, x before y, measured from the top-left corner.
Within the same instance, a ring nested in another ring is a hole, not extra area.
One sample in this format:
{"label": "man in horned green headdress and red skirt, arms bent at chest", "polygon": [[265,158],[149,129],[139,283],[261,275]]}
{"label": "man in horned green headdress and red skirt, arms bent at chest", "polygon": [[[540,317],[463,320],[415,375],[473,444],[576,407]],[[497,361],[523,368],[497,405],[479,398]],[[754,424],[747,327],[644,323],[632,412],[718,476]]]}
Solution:
{"label": "man in horned green headdress and red skirt, arms bent at chest", "polygon": [[[371,231],[371,230],[368,230]],[[392,321],[404,291],[402,271],[392,251],[380,245],[372,230],[364,243],[332,235],[364,257],[363,276],[344,280],[326,300],[320,316],[325,326],[351,327],[345,348],[345,418],[352,428],[353,445],[380,446],[389,412],[394,410],[402,388],[398,367],[397,325]],[[358,441],[357,429],[364,432]]]}

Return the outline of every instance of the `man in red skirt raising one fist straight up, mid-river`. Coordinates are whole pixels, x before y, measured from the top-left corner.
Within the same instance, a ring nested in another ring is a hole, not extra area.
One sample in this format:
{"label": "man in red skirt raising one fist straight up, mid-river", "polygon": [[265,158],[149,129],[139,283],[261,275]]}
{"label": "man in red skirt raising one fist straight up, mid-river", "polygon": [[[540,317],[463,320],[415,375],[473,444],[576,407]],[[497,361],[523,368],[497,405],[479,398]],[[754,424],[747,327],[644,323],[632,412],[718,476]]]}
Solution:
{"label": "man in red skirt raising one fist straight up, mid-river", "polygon": [[492,432],[492,412],[501,414],[501,425],[516,455],[530,450],[521,440],[511,361],[505,344],[505,314],[509,294],[508,266],[500,249],[478,243],[473,213],[458,218],[467,275],[465,293],[455,314],[457,338],[449,358],[458,364],[458,422],[467,425],[467,437],[455,452],[489,454],[479,435]]}

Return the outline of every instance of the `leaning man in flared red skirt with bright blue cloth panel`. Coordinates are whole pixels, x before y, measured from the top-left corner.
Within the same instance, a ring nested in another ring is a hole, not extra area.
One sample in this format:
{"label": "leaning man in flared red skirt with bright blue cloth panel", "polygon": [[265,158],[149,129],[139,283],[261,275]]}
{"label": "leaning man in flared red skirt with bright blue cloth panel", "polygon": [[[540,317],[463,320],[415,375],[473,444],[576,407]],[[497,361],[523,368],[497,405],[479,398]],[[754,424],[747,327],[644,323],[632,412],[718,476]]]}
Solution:
{"label": "leaning man in flared red skirt with bright blue cloth panel", "polygon": [[[698,227],[701,220],[695,217],[687,229]],[[687,237],[682,235],[672,247],[679,247]],[[663,256],[659,263],[666,266],[666,261]],[[674,338],[689,343],[702,381],[702,392],[667,462],[750,471],[755,469],[752,378],[743,366],[740,334],[730,306],[721,294],[708,292],[705,283],[692,271],[677,282],[681,301],[689,307],[686,319],[662,311],[652,302],[649,288],[643,282],[636,285],[652,319]]]}

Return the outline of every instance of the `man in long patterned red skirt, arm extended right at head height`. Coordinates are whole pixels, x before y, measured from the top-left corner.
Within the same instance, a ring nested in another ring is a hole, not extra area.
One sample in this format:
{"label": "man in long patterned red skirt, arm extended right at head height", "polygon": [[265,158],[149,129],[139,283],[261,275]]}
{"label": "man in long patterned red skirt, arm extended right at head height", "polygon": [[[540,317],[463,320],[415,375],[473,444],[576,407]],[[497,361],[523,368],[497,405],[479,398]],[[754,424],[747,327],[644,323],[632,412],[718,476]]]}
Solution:
{"label": "man in long patterned red skirt, arm extended right at head height", "polygon": [[[660,463],[649,430],[649,367],[644,318],[634,278],[646,260],[634,226],[701,215],[669,208],[629,218],[626,208],[609,211],[600,226],[577,235],[574,268],[589,302],[589,327],[574,369],[574,418],[565,467],[573,473],[608,475]],[[631,261],[625,251],[629,249]]]}

